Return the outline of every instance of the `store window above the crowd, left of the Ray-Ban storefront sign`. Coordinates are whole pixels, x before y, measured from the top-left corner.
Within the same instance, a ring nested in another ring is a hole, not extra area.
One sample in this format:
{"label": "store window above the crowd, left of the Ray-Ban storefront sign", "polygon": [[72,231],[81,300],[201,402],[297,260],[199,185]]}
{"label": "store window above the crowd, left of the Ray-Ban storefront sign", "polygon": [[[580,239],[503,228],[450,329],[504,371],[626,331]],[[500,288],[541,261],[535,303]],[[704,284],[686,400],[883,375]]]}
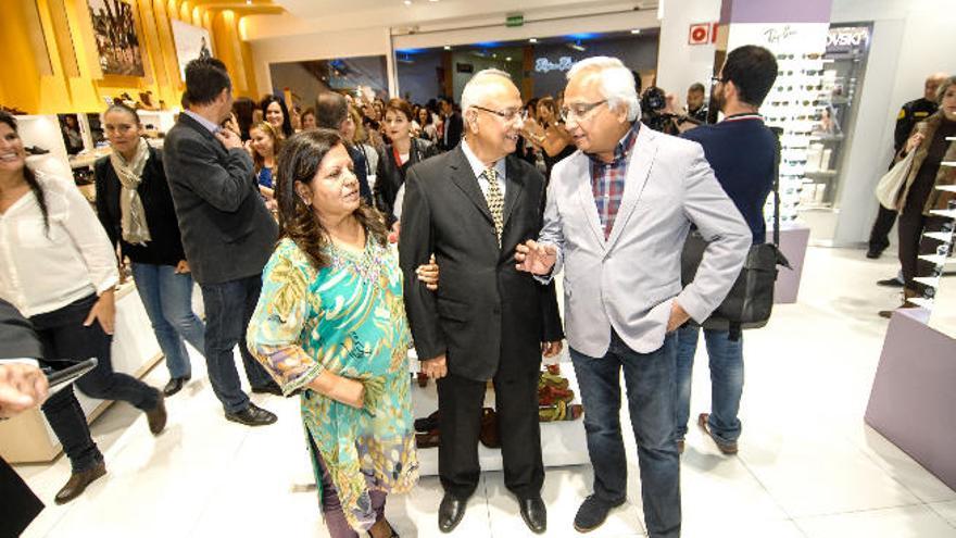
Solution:
{"label": "store window above the crowd, left of the Ray-Ban storefront sign", "polygon": [[293,90],[292,100],[309,108],[323,91],[355,92],[369,88],[376,96],[388,98],[388,65],[385,55],[337,58],[269,64],[273,92]]}

